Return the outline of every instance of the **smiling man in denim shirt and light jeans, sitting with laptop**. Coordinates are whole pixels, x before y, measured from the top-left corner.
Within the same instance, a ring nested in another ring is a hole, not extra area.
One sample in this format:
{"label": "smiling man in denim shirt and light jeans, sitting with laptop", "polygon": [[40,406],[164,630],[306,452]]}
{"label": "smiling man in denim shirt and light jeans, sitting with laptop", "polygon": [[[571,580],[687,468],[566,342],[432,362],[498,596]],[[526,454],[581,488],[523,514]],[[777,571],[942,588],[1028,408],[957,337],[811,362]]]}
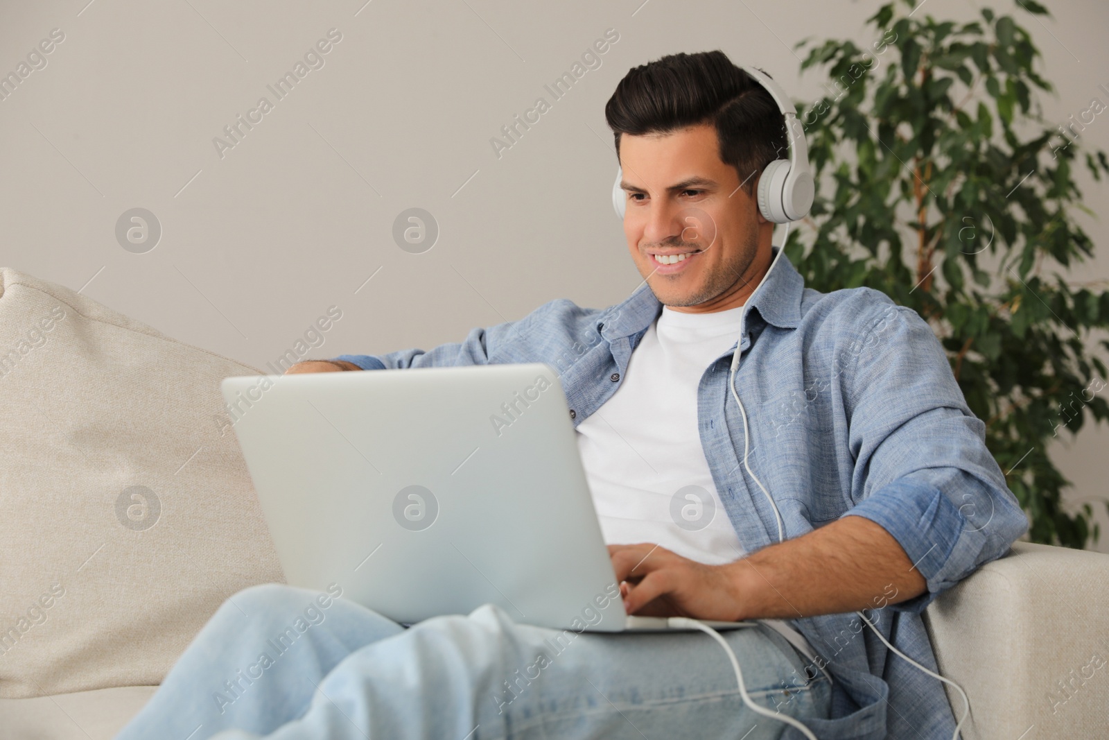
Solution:
{"label": "smiling man in denim shirt and light jeans, sitting with laptop", "polygon": [[[920,611],[1027,528],[939,343],[881,293],[821,294],[773,262],[754,193],[783,118],[722,52],[631,70],[606,115],[645,283],[628,300],[289,372],[550,363],[629,612],[788,620],[725,633],[757,703],[822,739],[952,737],[940,683],[853,614],[935,671]],[[682,526],[675,496],[716,515]],[[404,629],[332,596],[236,595],[120,737],[802,737],[744,706],[700,632],[552,655],[553,630],[495,607]],[[256,659],[325,600],[308,639]]]}

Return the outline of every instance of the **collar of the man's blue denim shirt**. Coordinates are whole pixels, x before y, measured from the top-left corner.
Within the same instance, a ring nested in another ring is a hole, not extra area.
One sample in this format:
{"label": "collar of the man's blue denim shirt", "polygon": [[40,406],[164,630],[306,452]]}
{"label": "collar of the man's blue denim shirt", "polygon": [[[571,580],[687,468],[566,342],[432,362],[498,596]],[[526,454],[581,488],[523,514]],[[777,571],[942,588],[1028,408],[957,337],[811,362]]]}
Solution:
{"label": "collar of the man's blue denim shirt", "polygon": [[[771,247],[776,255],[779,247]],[[780,328],[796,328],[801,322],[801,294],[805,281],[784,254],[771,270],[766,282],[747,301],[767,324]],[[604,320],[603,335],[617,339],[643,332],[662,311],[662,303],[654,297],[643,281],[622,303],[610,307]]]}

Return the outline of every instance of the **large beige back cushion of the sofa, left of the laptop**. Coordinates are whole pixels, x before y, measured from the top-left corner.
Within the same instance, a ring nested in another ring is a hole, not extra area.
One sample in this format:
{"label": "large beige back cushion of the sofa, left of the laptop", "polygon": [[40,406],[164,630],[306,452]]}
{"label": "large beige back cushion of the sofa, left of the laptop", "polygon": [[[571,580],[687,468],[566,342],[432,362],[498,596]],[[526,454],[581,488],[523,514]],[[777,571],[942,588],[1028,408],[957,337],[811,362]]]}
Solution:
{"label": "large beige back cushion of the sofa, left of the laptop", "polygon": [[160,683],[284,580],[218,388],[260,373],[0,268],[0,698]]}

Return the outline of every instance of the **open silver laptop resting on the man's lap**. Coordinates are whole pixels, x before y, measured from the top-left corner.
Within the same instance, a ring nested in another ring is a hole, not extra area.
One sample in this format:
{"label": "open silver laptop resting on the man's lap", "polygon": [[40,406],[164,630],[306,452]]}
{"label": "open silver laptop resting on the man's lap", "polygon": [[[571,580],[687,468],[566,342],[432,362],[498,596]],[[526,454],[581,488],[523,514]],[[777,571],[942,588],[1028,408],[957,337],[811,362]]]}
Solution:
{"label": "open silver laptop resting on the man's lap", "polygon": [[337,585],[405,625],[496,604],[554,629],[670,629],[624,612],[551,365],[242,376],[221,391],[291,586]]}

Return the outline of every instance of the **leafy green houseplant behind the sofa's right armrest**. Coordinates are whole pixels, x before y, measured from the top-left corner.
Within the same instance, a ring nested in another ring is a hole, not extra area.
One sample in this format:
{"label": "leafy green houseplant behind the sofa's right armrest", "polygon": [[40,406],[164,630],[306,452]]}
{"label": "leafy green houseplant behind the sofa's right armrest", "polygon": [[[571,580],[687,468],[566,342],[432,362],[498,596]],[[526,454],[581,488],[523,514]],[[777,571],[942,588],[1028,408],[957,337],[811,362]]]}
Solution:
{"label": "leafy green houseplant behind the sofa's right armrest", "polygon": [[[985,9],[984,22],[937,22],[913,7],[867,19],[879,37],[867,48],[797,44],[802,71],[826,68],[831,82],[797,105],[817,196],[786,254],[812,287],[865,285],[919,313],[986,423],[1031,539],[1083,547],[1099,536],[1092,509],[1065,510],[1070,484],[1047,448],[1087,416],[1109,419],[1109,342],[1090,336],[1109,325],[1109,292],[1074,280],[1093,244],[1071,217],[1090,212],[1072,166],[1109,173],[1105,152],[1080,158],[1076,141],[1105,105],[1045,122],[1034,89],[1054,88],[1014,18]],[[988,526],[988,513],[965,514]]]}

